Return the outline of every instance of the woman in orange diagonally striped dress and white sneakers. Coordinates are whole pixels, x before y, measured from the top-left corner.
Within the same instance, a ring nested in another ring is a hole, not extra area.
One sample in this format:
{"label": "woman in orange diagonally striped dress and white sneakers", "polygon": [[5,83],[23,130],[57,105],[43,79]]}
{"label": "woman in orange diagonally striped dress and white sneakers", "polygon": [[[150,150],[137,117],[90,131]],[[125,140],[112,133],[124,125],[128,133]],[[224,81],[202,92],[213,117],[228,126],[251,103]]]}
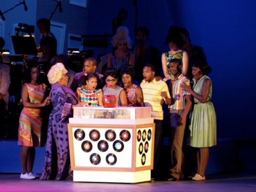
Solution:
{"label": "woman in orange diagonally striped dress and white sneakers", "polygon": [[45,98],[47,87],[39,84],[39,70],[36,65],[29,67],[28,83],[23,84],[21,99],[23,110],[20,113],[18,145],[21,145],[20,160],[22,179],[35,179],[38,177],[33,173],[35,160],[35,147],[43,147],[45,141],[41,137],[42,115],[41,108],[50,104],[50,97]]}

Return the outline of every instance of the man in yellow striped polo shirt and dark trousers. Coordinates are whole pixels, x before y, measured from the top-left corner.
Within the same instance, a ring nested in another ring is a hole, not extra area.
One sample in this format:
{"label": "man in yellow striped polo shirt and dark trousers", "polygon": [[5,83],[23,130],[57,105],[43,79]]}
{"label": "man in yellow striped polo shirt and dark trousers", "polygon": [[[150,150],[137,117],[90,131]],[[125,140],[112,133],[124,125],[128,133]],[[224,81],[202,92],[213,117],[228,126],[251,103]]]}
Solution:
{"label": "man in yellow striped polo shirt and dark trousers", "polygon": [[151,171],[151,179],[157,175],[158,162],[160,157],[160,146],[163,134],[163,102],[166,105],[171,104],[171,97],[166,82],[155,78],[155,67],[152,64],[146,64],[143,68],[143,81],[140,87],[143,92],[145,107],[151,107],[151,117],[154,118],[154,169]]}

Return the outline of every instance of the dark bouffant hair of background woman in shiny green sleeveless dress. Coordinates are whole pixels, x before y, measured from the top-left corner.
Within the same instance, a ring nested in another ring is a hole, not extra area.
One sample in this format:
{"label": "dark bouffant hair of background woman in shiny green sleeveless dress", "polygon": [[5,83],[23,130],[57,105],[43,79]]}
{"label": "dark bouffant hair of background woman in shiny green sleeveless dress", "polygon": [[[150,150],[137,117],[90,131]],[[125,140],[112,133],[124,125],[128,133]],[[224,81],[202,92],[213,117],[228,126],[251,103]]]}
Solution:
{"label": "dark bouffant hair of background woman in shiny green sleeveless dress", "polygon": [[179,48],[184,46],[185,43],[182,35],[180,34],[180,28],[178,26],[169,27],[165,44],[168,44],[169,42],[176,44]]}

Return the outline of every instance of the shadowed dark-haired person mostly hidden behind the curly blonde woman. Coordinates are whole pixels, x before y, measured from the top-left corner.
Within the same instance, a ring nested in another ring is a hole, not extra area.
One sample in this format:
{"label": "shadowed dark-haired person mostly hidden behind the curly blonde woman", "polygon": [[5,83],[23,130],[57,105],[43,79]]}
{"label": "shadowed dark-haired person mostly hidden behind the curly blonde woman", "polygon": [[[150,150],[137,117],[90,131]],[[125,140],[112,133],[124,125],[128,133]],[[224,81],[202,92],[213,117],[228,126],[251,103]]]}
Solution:
{"label": "shadowed dark-haired person mostly hidden behind the curly blonde woman", "polygon": [[73,70],[71,70],[69,68],[67,55],[62,55],[62,54],[57,55],[52,59],[51,63],[52,63],[52,65],[54,65],[56,63],[62,63],[64,65],[64,67],[67,70],[67,76],[68,76],[67,87],[71,87],[71,84],[73,83],[76,72],[74,72]]}

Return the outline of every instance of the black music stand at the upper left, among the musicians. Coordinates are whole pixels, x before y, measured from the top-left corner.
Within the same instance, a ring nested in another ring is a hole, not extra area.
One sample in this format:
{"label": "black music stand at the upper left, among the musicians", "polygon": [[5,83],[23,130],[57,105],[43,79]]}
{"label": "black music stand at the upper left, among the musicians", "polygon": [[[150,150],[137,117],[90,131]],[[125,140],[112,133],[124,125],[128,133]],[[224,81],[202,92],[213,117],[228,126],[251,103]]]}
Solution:
{"label": "black music stand at the upper left, among the musicians", "polygon": [[37,55],[38,50],[35,44],[35,38],[29,35],[24,36],[12,36],[12,44],[15,54],[18,55]]}

